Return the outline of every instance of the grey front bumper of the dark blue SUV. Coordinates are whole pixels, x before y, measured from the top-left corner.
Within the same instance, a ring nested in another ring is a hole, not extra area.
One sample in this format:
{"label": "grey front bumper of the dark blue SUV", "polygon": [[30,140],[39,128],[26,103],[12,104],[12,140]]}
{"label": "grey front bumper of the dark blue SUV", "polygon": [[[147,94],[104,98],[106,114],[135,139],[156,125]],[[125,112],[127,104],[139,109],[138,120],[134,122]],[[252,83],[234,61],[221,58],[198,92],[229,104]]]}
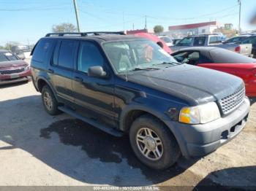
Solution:
{"label": "grey front bumper of the dark blue SUV", "polygon": [[176,136],[184,157],[202,156],[214,152],[241,132],[246,124],[249,107],[249,99],[244,98],[244,102],[236,111],[206,124],[187,125],[170,121],[165,123]]}

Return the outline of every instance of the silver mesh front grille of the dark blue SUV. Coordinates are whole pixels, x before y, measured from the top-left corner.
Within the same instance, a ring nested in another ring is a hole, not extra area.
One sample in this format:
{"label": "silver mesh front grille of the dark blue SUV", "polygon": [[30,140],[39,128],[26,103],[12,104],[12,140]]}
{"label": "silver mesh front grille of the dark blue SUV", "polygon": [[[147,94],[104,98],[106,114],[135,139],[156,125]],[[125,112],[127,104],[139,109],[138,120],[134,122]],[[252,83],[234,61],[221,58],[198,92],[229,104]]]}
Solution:
{"label": "silver mesh front grille of the dark blue SUV", "polygon": [[219,101],[223,114],[229,114],[233,112],[238,106],[242,104],[245,97],[245,88],[244,86],[236,90],[235,93],[228,95],[225,98],[222,98]]}

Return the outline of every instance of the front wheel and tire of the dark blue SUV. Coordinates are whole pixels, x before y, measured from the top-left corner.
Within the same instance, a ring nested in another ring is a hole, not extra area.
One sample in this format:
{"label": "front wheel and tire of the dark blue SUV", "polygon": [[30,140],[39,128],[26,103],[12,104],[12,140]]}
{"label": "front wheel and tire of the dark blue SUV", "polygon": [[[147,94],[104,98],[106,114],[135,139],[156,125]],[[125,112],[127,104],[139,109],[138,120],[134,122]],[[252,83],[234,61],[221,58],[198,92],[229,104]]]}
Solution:
{"label": "front wheel and tire of the dark blue SUV", "polygon": [[138,117],[132,123],[129,141],[138,159],[157,170],[169,168],[181,153],[170,130],[149,114]]}

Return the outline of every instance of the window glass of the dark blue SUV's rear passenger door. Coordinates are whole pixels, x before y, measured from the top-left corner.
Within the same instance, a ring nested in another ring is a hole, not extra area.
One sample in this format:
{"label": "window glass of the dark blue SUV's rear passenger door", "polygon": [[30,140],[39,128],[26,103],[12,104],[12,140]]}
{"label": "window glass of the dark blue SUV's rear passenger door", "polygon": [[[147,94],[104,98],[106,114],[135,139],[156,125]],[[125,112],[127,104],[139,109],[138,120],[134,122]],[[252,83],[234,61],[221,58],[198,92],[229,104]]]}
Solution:
{"label": "window glass of the dark blue SUV's rear passenger door", "polygon": [[78,42],[72,40],[61,41],[59,47],[58,65],[67,69],[74,68],[75,50]]}

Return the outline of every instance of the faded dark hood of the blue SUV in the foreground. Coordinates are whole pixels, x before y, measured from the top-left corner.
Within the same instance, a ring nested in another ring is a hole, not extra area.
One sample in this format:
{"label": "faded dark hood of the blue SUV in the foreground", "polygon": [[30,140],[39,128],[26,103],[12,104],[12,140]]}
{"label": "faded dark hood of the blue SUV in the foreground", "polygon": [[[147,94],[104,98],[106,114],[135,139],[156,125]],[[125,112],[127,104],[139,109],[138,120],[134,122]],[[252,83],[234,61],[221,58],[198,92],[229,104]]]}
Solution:
{"label": "faded dark hood of the blue SUV in the foreground", "polygon": [[244,86],[233,75],[188,64],[138,72],[128,75],[128,80],[183,98],[192,105],[217,101]]}

